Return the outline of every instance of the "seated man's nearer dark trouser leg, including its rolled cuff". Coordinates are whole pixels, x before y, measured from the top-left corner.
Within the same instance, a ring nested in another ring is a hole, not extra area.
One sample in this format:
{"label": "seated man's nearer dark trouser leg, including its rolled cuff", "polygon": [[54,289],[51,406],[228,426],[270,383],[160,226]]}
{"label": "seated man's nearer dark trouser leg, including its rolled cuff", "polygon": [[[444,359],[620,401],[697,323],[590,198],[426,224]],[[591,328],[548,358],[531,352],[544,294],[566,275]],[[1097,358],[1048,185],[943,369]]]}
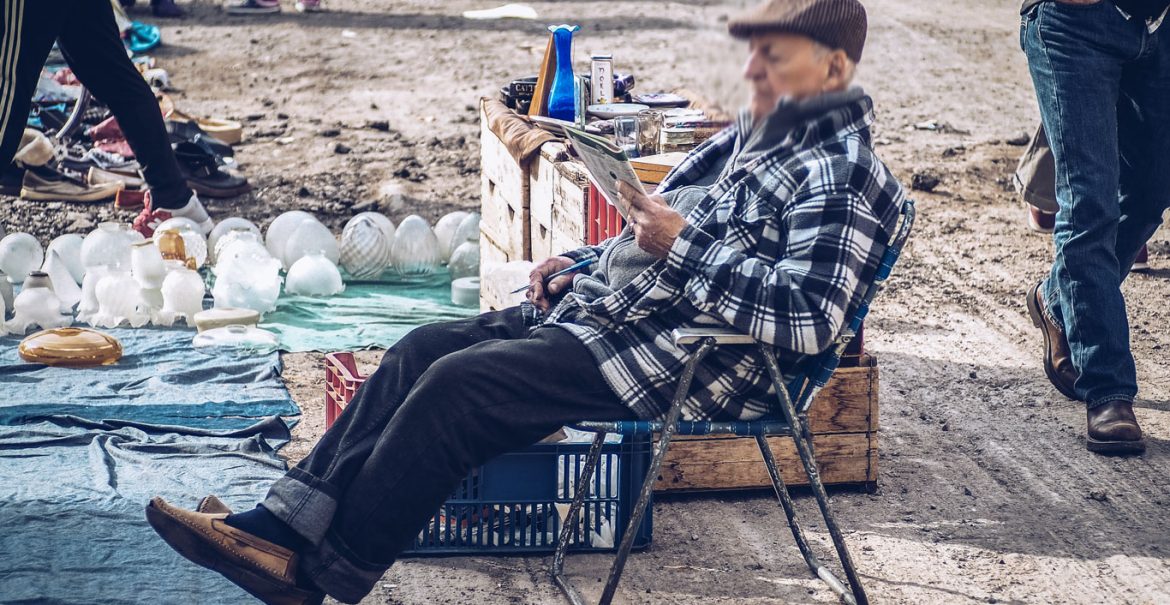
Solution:
{"label": "seated man's nearer dark trouser leg, including its rolled cuff", "polygon": [[[634,418],[589,350],[559,328],[448,355],[390,418],[316,546],[300,552],[301,571],[357,603],[472,468],[574,420]],[[316,528],[319,514],[308,516]],[[284,521],[303,527],[298,517]]]}

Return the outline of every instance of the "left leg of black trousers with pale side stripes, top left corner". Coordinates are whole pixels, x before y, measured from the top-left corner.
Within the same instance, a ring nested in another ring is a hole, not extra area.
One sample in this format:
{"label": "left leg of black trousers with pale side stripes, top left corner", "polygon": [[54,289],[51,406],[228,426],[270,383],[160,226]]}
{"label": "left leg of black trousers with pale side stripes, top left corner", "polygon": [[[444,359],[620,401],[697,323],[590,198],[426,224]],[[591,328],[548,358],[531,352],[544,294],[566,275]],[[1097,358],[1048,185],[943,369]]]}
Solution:
{"label": "left leg of black trousers with pale side stripes, top left corner", "polygon": [[0,0],[0,166],[25,133],[33,91],[62,20],[62,2]]}

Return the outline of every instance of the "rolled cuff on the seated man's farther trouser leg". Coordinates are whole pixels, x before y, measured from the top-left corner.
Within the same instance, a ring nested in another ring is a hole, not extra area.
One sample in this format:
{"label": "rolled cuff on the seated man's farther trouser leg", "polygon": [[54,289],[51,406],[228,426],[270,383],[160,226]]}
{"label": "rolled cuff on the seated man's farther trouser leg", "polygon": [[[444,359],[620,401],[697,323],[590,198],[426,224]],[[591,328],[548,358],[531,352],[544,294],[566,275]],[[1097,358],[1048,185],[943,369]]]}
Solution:
{"label": "rolled cuff on the seated man's farther trouser leg", "polygon": [[276,480],[261,502],[311,544],[321,544],[337,510],[332,486],[294,468]]}

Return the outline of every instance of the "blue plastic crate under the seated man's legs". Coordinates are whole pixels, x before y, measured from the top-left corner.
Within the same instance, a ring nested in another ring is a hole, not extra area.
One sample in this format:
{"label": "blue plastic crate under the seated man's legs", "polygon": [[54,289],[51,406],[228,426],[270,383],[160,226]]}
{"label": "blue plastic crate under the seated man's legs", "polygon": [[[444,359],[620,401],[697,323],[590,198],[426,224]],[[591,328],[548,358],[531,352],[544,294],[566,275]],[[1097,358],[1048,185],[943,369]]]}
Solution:
{"label": "blue plastic crate under the seated man's legs", "polygon": [[[572,550],[617,550],[646,479],[651,448],[645,439],[603,446]],[[552,552],[589,449],[590,444],[537,444],[475,469],[405,555]],[[635,549],[651,544],[652,528],[647,508]]]}

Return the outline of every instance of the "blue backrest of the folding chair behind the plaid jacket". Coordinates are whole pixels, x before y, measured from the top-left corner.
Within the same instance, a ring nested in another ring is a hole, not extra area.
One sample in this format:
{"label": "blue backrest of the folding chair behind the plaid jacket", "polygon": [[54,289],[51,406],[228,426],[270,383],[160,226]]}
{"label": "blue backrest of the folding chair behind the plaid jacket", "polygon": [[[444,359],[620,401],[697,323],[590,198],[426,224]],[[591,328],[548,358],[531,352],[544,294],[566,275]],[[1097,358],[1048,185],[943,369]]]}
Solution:
{"label": "blue backrest of the folding chair behind the plaid jacket", "polygon": [[866,294],[861,297],[861,304],[854,311],[849,324],[841,330],[841,334],[828,349],[810,360],[807,365],[808,370],[789,383],[789,397],[792,398],[797,413],[803,414],[808,411],[808,406],[812,405],[817,392],[828,384],[828,379],[833,377],[833,372],[841,364],[841,355],[854,336],[856,336],[858,330],[861,329],[861,322],[869,314],[869,304],[878,296],[878,293],[881,291],[882,286],[885,286],[886,280],[894,269],[894,263],[902,255],[902,248],[910,238],[910,228],[914,227],[914,200],[907,199],[902,204],[902,216],[899,221],[897,231],[886,246],[881,263],[878,264],[873,281],[866,288]]}

